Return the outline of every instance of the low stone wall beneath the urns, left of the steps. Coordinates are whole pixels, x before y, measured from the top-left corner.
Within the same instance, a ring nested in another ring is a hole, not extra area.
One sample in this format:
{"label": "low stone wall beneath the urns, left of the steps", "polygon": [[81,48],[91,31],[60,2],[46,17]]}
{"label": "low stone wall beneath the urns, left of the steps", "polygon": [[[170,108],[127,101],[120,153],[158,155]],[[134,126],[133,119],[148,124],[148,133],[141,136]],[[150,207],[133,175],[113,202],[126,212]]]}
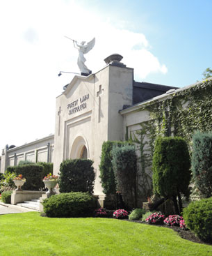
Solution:
{"label": "low stone wall beneath the urns, left of the steps", "polygon": [[11,204],[30,201],[31,199],[39,199],[45,193],[46,191],[13,190],[13,194],[11,195]]}

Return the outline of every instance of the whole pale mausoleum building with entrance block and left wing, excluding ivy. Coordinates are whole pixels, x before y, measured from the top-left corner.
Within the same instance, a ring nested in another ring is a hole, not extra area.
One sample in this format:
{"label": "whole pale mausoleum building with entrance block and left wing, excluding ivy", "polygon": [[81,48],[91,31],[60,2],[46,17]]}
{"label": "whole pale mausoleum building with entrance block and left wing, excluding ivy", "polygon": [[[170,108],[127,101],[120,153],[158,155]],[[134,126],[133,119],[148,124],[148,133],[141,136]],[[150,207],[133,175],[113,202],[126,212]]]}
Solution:
{"label": "whole pale mausoleum building with entrance block and left wing, excluding ivy", "polygon": [[[125,140],[125,133],[138,130],[147,121],[146,112],[138,107],[152,98],[168,97],[176,87],[135,82],[133,68],[113,54],[106,66],[95,74],[76,75],[56,98],[55,134],[41,140],[3,149],[1,172],[19,160],[54,163],[58,174],[60,163],[69,158],[89,158],[96,172],[95,195],[102,195],[99,180],[101,145],[108,140]],[[172,91],[170,91],[170,89]],[[169,91],[168,93],[166,93]]]}

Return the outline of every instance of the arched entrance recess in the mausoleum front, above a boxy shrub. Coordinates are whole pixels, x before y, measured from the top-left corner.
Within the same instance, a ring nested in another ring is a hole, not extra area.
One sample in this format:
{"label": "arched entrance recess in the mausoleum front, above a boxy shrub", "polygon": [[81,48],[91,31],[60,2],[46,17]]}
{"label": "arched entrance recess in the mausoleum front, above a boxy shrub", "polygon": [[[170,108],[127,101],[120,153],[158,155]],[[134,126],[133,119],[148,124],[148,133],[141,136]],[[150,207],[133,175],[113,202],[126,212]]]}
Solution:
{"label": "arched entrance recess in the mausoleum front, above a boxy shrub", "polygon": [[82,136],[78,136],[74,140],[74,143],[72,144],[70,158],[71,159],[75,159],[75,158],[88,159],[89,158],[88,143],[85,141],[85,139]]}

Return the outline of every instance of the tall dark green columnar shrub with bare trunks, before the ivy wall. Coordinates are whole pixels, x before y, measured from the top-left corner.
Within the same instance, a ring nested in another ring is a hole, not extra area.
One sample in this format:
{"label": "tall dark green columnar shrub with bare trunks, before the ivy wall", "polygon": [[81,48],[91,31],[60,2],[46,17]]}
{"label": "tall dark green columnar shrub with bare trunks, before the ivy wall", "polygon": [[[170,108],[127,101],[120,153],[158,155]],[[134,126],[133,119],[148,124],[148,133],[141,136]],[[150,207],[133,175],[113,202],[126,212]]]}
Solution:
{"label": "tall dark green columnar shrub with bare trunks, before the ivy wall", "polygon": [[[181,195],[189,195],[190,157],[188,146],[181,137],[158,137],[153,156],[154,192],[173,199],[175,211],[181,212]],[[179,198],[179,209],[177,206]]]}

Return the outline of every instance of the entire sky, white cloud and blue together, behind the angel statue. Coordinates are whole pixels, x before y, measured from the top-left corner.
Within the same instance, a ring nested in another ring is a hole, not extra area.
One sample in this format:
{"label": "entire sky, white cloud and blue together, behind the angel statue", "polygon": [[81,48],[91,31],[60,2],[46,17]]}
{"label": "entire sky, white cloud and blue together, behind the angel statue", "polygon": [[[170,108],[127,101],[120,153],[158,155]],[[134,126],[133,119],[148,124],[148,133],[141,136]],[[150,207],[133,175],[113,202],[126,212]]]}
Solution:
{"label": "entire sky, white cloud and blue together, behind the angel statue", "polygon": [[0,148],[54,133],[55,98],[79,72],[64,38],[91,40],[94,73],[122,54],[135,80],[187,86],[212,68],[211,0],[0,1]]}

